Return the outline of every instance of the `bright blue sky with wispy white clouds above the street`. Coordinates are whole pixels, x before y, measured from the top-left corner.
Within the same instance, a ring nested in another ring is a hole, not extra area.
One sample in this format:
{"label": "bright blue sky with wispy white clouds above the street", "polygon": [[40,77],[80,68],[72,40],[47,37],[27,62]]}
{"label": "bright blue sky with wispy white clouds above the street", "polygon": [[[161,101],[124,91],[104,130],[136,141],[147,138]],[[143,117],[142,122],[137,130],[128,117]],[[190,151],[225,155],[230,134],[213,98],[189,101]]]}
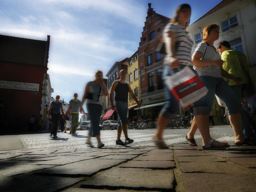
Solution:
{"label": "bright blue sky with wispy white clouds above the street", "polygon": [[148,3],[171,18],[181,3],[191,5],[193,23],[221,0],[1,0],[0,34],[47,40],[51,36],[48,74],[55,98],[82,98],[85,84],[100,69],[136,52]]}

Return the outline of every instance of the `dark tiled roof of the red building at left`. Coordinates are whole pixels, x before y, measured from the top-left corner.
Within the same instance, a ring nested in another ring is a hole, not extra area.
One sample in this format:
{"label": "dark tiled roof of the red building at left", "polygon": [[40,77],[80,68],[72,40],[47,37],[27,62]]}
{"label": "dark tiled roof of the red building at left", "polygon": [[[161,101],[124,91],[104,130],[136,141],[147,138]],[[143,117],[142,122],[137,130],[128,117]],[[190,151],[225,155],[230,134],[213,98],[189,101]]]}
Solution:
{"label": "dark tiled roof of the red building at left", "polygon": [[47,66],[50,36],[47,41],[0,35],[0,61]]}

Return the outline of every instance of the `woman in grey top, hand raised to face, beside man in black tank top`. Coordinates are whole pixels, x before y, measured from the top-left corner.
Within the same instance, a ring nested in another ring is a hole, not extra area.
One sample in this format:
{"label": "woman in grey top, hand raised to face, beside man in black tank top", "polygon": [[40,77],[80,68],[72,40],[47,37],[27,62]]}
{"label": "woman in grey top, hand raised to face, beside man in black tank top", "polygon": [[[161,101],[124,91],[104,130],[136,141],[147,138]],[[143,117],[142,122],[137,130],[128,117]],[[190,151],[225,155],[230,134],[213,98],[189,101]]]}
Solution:
{"label": "woman in grey top, hand raised to face, beside man in black tank top", "polygon": [[102,101],[100,95],[102,92],[105,96],[108,96],[108,90],[103,80],[103,73],[102,71],[97,70],[95,73],[95,80],[86,84],[79,110],[80,113],[85,114],[83,105],[86,100],[86,107],[91,123],[86,144],[90,147],[93,147],[91,141],[92,137],[96,137],[98,148],[104,147],[104,144],[100,140],[100,115],[102,113]]}

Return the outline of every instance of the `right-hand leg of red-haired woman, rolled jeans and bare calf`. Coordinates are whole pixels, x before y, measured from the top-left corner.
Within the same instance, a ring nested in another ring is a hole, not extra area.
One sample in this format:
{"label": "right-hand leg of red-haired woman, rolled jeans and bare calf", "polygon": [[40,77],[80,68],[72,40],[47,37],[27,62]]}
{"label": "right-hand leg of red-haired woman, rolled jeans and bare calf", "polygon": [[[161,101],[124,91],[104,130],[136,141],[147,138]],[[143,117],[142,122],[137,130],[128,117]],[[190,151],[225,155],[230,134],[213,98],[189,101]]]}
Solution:
{"label": "right-hand leg of red-haired woman, rolled jeans and bare calf", "polygon": [[228,118],[235,133],[235,143],[242,143],[245,140],[241,123],[241,101],[238,102],[231,87],[223,79],[216,87],[216,95],[223,100],[228,108]]}

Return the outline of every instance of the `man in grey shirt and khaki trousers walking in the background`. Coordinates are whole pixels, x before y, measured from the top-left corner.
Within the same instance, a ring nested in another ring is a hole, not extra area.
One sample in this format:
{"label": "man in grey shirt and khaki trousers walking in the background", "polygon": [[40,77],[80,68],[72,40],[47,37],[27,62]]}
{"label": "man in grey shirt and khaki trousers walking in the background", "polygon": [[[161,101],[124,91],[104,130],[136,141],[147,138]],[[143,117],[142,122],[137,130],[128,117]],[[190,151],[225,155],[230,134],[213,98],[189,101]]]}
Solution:
{"label": "man in grey shirt and khaki trousers walking in the background", "polygon": [[72,135],[76,134],[76,127],[79,119],[79,108],[81,105],[81,101],[78,100],[77,97],[78,97],[77,93],[74,93],[74,99],[71,99],[69,101],[69,106],[68,106],[68,116],[69,116],[69,113],[71,114]]}

